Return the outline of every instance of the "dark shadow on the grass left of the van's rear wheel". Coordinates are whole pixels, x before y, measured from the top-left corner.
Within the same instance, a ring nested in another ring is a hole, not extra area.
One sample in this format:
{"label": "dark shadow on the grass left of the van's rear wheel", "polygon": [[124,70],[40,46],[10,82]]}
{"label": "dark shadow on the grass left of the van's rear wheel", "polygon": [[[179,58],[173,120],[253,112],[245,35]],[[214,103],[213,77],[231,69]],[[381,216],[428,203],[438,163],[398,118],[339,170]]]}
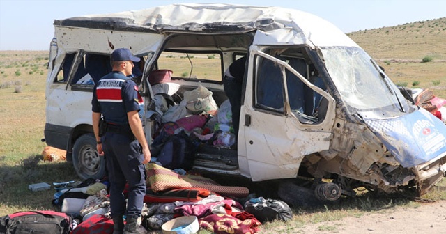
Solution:
{"label": "dark shadow on the grass left of the van's rear wheel", "polygon": [[33,192],[28,185],[79,180],[70,162],[45,162],[42,155],[31,155],[20,164],[5,165],[0,159],[0,216],[22,210],[56,210],[51,203],[56,190]]}

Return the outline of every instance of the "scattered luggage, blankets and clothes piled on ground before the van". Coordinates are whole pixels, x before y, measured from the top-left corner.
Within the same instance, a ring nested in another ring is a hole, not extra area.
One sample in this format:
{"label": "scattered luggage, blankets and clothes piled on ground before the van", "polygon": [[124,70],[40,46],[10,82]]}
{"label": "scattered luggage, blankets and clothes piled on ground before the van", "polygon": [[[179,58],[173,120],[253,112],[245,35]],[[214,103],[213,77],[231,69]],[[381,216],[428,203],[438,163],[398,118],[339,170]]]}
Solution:
{"label": "scattered luggage, blankets and clothes piled on ground before the van", "polygon": [[[222,186],[153,163],[147,175],[140,233],[257,233],[263,222],[293,216],[283,201],[256,197],[246,187]],[[107,180],[93,179],[58,189],[52,203],[59,211],[6,215],[0,218],[0,233],[112,233],[108,189]]]}

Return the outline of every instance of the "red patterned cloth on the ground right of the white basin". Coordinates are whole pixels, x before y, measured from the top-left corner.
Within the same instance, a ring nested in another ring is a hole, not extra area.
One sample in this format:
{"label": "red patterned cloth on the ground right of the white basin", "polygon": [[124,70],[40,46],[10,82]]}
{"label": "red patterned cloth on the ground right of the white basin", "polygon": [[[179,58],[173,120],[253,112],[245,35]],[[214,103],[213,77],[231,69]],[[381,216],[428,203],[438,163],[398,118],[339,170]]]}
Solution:
{"label": "red patterned cloth on the ground right of the white basin", "polygon": [[256,218],[241,221],[228,214],[210,214],[199,219],[200,228],[216,234],[252,234],[259,232],[261,222]]}

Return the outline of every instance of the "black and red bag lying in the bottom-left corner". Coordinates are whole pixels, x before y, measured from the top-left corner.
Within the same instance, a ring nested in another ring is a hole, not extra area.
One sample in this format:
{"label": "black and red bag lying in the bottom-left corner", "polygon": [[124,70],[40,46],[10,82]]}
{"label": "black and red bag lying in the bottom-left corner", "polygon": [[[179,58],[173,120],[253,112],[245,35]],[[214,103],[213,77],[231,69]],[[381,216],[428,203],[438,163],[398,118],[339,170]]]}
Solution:
{"label": "black and red bag lying in the bottom-left corner", "polygon": [[49,210],[16,212],[0,217],[0,233],[5,234],[68,234],[71,227],[71,217]]}

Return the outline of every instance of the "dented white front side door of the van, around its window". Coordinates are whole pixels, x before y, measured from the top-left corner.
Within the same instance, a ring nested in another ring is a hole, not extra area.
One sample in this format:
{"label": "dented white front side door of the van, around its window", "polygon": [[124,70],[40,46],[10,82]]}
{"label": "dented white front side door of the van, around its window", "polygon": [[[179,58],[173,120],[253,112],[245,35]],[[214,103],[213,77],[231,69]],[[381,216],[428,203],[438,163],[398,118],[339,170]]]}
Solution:
{"label": "dented white front side door of the van, around its window", "polygon": [[[325,116],[325,120],[322,123],[305,125],[300,123],[298,118],[292,113],[289,116],[282,116],[259,111],[252,107],[251,103],[255,102],[253,93],[247,92],[245,96],[245,103],[242,106],[242,114],[240,116],[252,116],[252,123],[249,126],[240,125],[240,132],[244,132],[244,137],[239,139],[245,139],[243,146],[246,147],[249,176],[254,181],[295,178],[300,162],[305,155],[330,148],[332,125],[335,118],[335,100],[321,88],[309,83],[305,77],[302,77],[289,64],[261,52],[262,49],[262,47],[251,47],[249,68],[254,68],[253,61],[256,54],[265,56],[289,68],[304,84],[323,95],[329,102],[327,116]],[[256,89],[253,86],[255,84],[253,80],[255,75],[251,73],[253,70],[248,70],[247,90]],[[238,145],[239,147],[240,144]]]}

